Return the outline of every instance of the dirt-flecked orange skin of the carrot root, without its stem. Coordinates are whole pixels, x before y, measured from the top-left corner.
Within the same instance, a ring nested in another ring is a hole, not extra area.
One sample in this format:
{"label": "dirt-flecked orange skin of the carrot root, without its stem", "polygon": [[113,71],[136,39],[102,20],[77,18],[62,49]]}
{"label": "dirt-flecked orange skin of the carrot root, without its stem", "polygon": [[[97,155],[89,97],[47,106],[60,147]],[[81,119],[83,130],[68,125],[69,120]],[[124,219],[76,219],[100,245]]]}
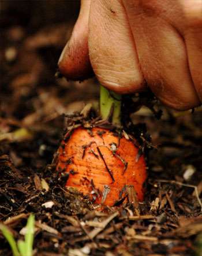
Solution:
{"label": "dirt-flecked orange skin of the carrot root, without its stem", "polygon": [[[96,190],[100,191],[100,196],[96,197],[95,202],[101,203],[104,185],[108,185],[110,191],[104,204],[113,206],[119,200],[119,194],[124,186],[133,185],[137,198],[143,201],[147,171],[143,155],[136,161],[139,148],[124,137],[119,140],[107,129],[93,128],[91,132],[92,136],[87,129],[74,129],[69,140],[66,142],[63,140],[59,147],[57,170],[69,173],[66,186],[77,188],[78,191],[92,197],[92,180]],[[98,132],[104,132],[102,137]],[[111,143],[116,145],[115,155],[111,151]],[[113,178],[107,171],[100,154]],[[121,159],[127,163],[126,169]]]}

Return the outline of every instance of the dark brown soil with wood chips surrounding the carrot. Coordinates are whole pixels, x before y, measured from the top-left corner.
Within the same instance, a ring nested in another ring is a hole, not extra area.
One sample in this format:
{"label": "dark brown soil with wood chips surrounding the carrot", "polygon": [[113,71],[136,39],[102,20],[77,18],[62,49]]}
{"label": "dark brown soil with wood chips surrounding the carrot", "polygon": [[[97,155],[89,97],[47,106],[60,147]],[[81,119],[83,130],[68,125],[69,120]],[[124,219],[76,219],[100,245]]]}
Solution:
{"label": "dark brown soil with wood chips surrounding the carrot", "polygon": [[[39,256],[201,255],[201,109],[174,112],[150,93],[125,97],[126,130],[147,155],[147,192],[143,203],[128,196],[100,212],[65,189],[52,163],[65,115],[98,102],[95,79],[54,76],[79,2],[1,1],[0,8],[0,221],[22,239],[34,213]],[[12,255],[1,233],[0,244],[0,255]]]}

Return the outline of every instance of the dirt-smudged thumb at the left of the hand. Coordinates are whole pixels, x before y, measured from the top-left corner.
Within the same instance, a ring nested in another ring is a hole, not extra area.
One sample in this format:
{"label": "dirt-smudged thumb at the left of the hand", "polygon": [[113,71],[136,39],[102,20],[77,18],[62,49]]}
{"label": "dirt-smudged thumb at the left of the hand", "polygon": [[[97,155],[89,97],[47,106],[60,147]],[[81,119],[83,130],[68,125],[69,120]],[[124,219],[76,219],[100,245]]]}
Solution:
{"label": "dirt-smudged thumb at the left of the hand", "polygon": [[91,0],[81,0],[80,13],[69,42],[58,61],[60,72],[70,80],[83,80],[92,75],[88,56],[88,17]]}

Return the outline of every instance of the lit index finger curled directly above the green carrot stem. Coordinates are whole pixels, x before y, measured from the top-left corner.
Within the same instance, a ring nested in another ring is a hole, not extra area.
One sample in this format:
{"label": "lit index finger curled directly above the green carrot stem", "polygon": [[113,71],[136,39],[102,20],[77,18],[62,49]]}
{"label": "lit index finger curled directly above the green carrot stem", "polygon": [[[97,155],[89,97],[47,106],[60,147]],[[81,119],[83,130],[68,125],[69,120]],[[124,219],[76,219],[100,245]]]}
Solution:
{"label": "lit index finger curled directly above the green carrot stem", "polygon": [[119,0],[92,0],[89,18],[89,57],[99,82],[129,93],[144,88],[136,46]]}

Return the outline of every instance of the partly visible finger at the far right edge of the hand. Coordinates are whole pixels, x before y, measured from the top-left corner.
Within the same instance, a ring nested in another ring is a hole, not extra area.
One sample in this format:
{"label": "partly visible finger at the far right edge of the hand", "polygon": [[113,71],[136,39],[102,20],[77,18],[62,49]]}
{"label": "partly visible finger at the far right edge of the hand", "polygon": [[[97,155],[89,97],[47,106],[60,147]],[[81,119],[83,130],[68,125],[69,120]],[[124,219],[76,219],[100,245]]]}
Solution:
{"label": "partly visible finger at the far right edge of the hand", "polygon": [[202,1],[186,1],[185,43],[190,73],[202,102]]}

